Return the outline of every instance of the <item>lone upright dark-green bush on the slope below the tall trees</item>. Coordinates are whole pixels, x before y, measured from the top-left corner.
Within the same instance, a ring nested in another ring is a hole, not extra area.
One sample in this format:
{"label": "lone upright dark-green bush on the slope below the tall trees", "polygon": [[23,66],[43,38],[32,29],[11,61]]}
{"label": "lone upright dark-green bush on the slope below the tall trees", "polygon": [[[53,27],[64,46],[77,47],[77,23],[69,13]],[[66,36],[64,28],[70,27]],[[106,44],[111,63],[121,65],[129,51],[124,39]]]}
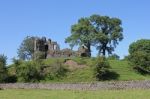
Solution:
{"label": "lone upright dark-green bush on the slope below the tall trees", "polygon": [[98,80],[106,80],[107,73],[109,72],[109,62],[105,57],[98,57],[96,61],[96,78]]}

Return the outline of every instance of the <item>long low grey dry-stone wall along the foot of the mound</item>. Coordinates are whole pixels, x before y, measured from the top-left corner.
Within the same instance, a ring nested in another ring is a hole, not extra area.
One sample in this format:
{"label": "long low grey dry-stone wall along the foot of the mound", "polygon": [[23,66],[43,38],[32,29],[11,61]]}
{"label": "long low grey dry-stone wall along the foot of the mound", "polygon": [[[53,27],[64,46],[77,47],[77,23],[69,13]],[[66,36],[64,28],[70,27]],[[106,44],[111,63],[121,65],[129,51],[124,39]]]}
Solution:
{"label": "long low grey dry-stone wall along the foot of the mound", "polygon": [[117,81],[98,83],[9,83],[0,84],[2,89],[58,89],[58,90],[107,90],[107,89],[150,89],[150,81]]}

